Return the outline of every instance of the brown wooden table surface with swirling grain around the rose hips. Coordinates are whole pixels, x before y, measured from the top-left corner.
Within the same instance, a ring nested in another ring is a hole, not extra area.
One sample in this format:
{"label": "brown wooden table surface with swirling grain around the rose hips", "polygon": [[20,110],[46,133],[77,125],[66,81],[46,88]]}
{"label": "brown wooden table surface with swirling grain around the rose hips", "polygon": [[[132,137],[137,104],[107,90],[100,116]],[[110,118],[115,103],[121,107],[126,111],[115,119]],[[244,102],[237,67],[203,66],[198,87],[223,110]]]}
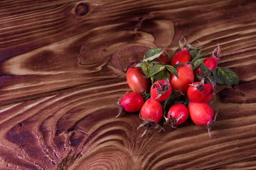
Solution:
{"label": "brown wooden table surface with swirling grain around the rose hips", "polygon": [[[181,36],[219,43],[239,85],[219,86],[211,139],[191,120],[141,137],[115,117],[122,70]],[[0,106],[1,170],[256,169],[256,1],[1,0]]]}

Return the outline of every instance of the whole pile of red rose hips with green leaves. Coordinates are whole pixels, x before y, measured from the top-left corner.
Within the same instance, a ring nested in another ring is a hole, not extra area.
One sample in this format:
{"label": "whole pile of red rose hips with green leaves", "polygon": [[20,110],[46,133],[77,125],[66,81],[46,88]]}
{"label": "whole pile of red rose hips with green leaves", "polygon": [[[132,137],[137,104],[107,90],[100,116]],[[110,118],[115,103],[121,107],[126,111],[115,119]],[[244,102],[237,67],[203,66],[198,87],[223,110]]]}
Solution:
{"label": "whole pile of red rose hips with green leaves", "polygon": [[[182,51],[172,58],[171,65],[161,48],[152,48],[140,63],[128,68],[126,78],[133,92],[127,92],[119,99],[118,116],[123,109],[140,111],[143,123],[138,128],[146,127],[142,136],[153,128],[165,131],[161,125],[176,128],[174,125],[185,122],[190,116],[196,125],[207,127],[211,137],[211,125],[217,112],[207,102],[218,90],[217,83],[237,85],[239,82],[235,72],[217,66],[219,46],[211,56],[204,57],[201,48],[181,40]],[[167,113],[166,107],[169,107]]]}

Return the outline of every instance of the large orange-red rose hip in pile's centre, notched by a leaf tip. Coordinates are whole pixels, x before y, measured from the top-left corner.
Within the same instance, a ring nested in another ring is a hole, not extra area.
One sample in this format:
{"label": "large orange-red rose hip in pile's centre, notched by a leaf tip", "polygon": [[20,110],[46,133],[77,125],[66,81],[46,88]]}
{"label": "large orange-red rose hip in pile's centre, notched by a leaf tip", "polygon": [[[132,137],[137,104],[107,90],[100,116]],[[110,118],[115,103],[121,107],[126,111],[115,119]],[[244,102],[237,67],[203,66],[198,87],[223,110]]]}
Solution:
{"label": "large orange-red rose hip in pile's centre, notched by a leaf tip", "polygon": [[194,73],[191,65],[182,65],[177,67],[178,77],[170,73],[170,83],[172,90],[180,90],[181,93],[186,93],[189,84],[194,81]]}

